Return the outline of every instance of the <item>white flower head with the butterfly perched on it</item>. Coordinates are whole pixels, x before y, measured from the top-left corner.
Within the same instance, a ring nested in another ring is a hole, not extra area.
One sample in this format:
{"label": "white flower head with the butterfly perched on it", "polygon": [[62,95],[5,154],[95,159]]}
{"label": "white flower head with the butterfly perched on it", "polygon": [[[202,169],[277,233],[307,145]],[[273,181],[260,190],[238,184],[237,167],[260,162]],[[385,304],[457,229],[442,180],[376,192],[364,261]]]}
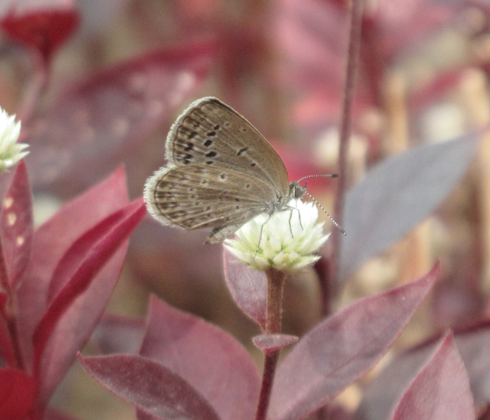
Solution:
{"label": "white flower head with the butterfly perched on it", "polygon": [[292,209],[276,211],[269,221],[268,214],[259,214],[237,230],[235,238],[225,240],[225,247],[242,264],[260,270],[295,272],[318,260],[311,254],[330,236],[323,235],[323,223],[316,223],[318,209],[301,200],[288,205]]}

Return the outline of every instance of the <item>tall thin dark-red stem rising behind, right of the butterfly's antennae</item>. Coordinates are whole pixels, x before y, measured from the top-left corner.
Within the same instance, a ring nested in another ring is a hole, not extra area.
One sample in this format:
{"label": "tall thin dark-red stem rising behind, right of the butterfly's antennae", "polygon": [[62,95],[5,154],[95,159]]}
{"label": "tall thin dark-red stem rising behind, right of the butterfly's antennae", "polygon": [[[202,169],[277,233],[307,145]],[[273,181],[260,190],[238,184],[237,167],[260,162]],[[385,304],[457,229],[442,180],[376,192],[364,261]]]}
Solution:
{"label": "tall thin dark-red stem rising behind, right of the butterfly's antennae", "polygon": [[[356,86],[356,72],[358,68],[360,31],[363,22],[363,0],[352,0],[351,19],[349,29],[349,48],[347,50],[346,76],[344,85],[344,102],[342,104],[342,121],[339,133],[339,179],[336,183],[334,218],[339,225],[343,225],[343,210],[346,189],[346,163],[349,151],[349,137],[351,136],[352,105],[354,88]],[[347,232],[349,235],[349,232]],[[338,229],[332,231],[332,257],[330,259],[330,286],[333,288],[330,296],[335,295],[339,289],[339,255],[340,237],[342,232]],[[323,311],[328,308],[328,302],[323,302]],[[324,315],[326,315],[324,313]]]}

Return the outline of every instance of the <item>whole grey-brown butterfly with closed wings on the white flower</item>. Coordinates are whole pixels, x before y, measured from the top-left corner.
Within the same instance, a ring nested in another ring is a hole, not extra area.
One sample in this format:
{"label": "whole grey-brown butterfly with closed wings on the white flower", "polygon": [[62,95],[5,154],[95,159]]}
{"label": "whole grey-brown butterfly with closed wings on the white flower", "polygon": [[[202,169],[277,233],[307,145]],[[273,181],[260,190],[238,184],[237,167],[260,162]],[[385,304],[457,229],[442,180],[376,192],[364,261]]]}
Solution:
{"label": "whole grey-brown butterfly with closed wings on the white flower", "polygon": [[300,183],[288,181],[265,137],[214,97],[197,99],[177,118],[165,156],[168,164],[145,184],[149,213],[164,225],[211,228],[206,239],[211,244],[259,214],[289,209],[290,200],[306,193]]}

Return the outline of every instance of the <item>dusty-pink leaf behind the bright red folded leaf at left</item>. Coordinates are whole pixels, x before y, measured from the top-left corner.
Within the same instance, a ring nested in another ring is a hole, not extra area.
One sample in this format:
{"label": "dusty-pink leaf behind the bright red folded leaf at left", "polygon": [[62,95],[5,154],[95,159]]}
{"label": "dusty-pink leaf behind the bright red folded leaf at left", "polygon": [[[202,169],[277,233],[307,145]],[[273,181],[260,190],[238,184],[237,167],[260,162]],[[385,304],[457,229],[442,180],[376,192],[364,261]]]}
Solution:
{"label": "dusty-pink leaf behind the bright red folded leaf at left", "polygon": [[59,260],[78,237],[127,204],[124,169],[66,203],[35,232],[31,261],[18,290],[19,339],[32,367],[32,335],[48,306],[48,290]]}

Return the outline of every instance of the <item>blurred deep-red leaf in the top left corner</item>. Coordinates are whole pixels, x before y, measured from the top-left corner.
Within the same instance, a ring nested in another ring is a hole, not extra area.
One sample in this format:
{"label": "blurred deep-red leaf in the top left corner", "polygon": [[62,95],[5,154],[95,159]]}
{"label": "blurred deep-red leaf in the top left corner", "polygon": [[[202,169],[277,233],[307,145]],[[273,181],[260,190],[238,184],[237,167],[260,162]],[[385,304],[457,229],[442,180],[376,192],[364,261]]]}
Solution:
{"label": "blurred deep-red leaf in the top left corner", "polygon": [[48,61],[73,34],[79,21],[77,10],[49,6],[22,13],[11,10],[0,20],[0,27],[10,38],[38,50]]}

